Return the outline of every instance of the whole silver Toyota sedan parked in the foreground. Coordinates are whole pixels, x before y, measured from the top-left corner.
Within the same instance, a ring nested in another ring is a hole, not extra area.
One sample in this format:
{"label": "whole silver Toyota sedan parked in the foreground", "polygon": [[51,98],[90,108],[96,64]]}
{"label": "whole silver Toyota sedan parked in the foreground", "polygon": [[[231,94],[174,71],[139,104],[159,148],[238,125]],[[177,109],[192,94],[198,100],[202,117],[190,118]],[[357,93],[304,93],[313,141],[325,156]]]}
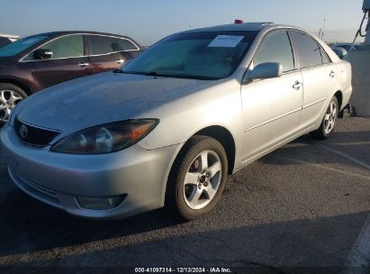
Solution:
{"label": "whole silver Toyota sedan parked in the foreground", "polygon": [[47,88],[0,133],[14,183],[89,218],[166,205],[208,213],[226,177],[302,134],[333,131],[351,68],[317,37],[273,23],[180,32],[121,69]]}

